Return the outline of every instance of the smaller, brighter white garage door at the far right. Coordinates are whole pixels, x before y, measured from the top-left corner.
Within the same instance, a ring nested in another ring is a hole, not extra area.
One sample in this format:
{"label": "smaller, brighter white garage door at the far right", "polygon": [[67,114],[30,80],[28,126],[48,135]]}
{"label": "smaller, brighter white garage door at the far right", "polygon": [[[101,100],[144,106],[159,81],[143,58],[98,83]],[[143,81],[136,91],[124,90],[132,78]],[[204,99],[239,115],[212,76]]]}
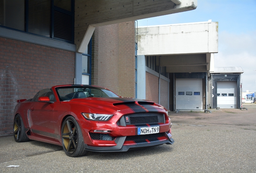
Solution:
{"label": "smaller, brighter white garage door at the far right", "polygon": [[236,81],[217,82],[217,107],[237,108]]}

